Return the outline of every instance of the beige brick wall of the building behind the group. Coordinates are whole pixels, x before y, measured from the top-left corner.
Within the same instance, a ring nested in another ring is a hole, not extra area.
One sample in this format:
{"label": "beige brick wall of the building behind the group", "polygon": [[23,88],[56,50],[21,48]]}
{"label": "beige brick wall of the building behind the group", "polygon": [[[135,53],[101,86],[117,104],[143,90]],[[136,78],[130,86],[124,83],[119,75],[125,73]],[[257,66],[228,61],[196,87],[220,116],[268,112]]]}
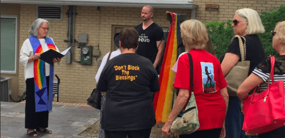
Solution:
{"label": "beige brick wall of the building behind the group", "polygon": [[[238,2],[238,3],[237,3]],[[194,0],[198,4],[196,10],[196,19],[207,22],[218,20],[227,21],[232,20],[237,9],[251,8],[259,13],[266,11],[273,6],[285,5],[282,0],[275,1],[228,1],[228,0]],[[205,4],[218,4],[218,11],[206,11]],[[68,6],[63,6],[63,20],[49,21],[49,36],[54,40],[55,45],[60,51],[67,48],[67,31],[68,31],[68,17],[66,12]],[[21,4],[20,5],[20,31],[19,31],[19,45],[30,37],[28,32],[31,24],[36,19],[36,5]],[[93,46],[93,50],[99,49],[101,56],[98,61],[103,58],[105,54],[110,51],[112,26],[129,25],[135,26],[141,23],[140,18],[141,8],[129,7],[101,7],[101,12],[97,10],[96,6],[76,6],[75,16],[75,34],[74,37],[78,40],[79,33],[88,33],[88,46]],[[187,14],[187,19],[190,19],[191,9],[155,9],[153,21],[159,24],[162,28],[168,28],[169,21],[166,20],[165,12],[174,12],[180,14]],[[80,61],[80,49],[74,47],[74,57]],[[62,102],[81,102],[86,103],[92,90],[96,86],[95,75],[98,66],[96,58],[93,58],[92,65],[81,65],[75,61],[71,64],[66,64],[66,58],[63,57],[61,64],[55,64],[55,72],[61,79],[61,93],[60,101]],[[25,91],[24,81],[24,67],[19,65],[19,95]]]}

